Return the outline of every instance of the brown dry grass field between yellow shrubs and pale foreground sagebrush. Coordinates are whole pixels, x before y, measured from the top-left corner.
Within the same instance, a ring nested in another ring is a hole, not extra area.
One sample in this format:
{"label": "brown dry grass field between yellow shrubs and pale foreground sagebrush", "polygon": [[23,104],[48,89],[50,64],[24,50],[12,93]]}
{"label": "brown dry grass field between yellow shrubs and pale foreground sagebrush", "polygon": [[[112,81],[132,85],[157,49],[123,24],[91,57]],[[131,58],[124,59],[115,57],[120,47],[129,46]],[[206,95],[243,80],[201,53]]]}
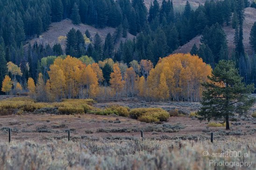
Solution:
{"label": "brown dry grass field between yellow shrubs and pale foreground sagebrush", "polygon": [[[162,108],[177,115],[171,114],[167,122],[146,123],[128,117],[117,115],[93,114],[35,114],[7,115],[0,117],[0,142],[8,140],[8,128],[12,129],[12,140],[39,140],[67,138],[67,131],[71,130],[71,138],[78,139],[138,139],[140,131],[144,131],[148,139],[190,139],[208,140],[210,132],[214,132],[216,140],[226,137],[253,138],[256,135],[256,118],[237,117],[231,121],[231,130],[225,127],[209,127],[208,122],[199,122],[196,117],[190,116],[200,107],[196,102],[137,102],[118,101],[95,103],[95,108],[105,108],[118,104],[133,108]],[[255,109],[255,107],[253,108]],[[253,110],[252,109],[252,110]]]}

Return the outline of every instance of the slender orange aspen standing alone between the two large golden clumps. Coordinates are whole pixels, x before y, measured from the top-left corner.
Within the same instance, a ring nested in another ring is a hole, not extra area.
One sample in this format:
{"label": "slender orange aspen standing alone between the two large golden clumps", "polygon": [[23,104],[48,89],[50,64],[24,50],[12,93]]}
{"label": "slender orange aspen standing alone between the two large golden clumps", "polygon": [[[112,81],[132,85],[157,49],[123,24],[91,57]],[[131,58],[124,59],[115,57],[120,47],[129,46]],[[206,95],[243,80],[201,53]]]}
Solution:
{"label": "slender orange aspen standing alone between the two large golden clumps", "polygon": [[122,81],[121,70],[118,64],[114,64],[113,73],[110,74],[110,85],[115,91],[115,97],[117,99],[118,92],[120,92],[124,87],[124,81]]}

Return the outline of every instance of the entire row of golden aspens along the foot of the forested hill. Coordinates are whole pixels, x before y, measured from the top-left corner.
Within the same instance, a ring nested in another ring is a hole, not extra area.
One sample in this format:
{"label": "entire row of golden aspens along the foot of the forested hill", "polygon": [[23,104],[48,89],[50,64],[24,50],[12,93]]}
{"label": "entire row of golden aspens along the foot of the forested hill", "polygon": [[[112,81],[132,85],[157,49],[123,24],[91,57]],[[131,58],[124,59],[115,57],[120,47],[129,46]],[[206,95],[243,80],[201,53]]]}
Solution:
{"label": "entire row of golden aspens along the foot of the forested hill", "polygon": [[21,68],[7,64],[11,77],[5,76],[1,90],[6,94],[28,95],[40,102],[58,102],[65,98],[98,100],[139,97],[149,101],[199,101],[201,82],[211,75],[211,67],[196,55],[174,54],[153,68],[149,60],[131,61],[129,67],[112,59],[94,62],[91,57],[49,56],[41,60],[35,81],[25,86],[16,80]]}

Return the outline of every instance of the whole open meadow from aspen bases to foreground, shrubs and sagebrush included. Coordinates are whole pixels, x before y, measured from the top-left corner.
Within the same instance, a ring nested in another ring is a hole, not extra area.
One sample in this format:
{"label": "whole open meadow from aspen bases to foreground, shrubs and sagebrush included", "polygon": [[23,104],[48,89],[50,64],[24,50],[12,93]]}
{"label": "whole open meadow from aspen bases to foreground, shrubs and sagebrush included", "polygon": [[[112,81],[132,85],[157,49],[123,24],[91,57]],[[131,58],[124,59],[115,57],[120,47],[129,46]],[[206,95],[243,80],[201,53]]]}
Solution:
{"label": "whole open meadow from aspen bases to foreground, shrubs and sagebrush included", "polygon": [[199,122],[199,107],[196,102],[135,99],[40,103],[4,98],[0,170],[255,169],[255,107],[248,116],[231,120],[231,130],[221,122]]}

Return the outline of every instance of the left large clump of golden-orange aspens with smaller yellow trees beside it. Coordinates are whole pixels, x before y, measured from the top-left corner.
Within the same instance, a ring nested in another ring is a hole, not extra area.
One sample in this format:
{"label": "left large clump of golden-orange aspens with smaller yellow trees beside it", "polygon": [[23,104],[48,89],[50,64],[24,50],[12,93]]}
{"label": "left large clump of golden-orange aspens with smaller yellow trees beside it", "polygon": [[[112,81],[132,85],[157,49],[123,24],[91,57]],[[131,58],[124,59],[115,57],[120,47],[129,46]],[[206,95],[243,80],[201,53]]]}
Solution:
{"label": "left large clump of golden-orange aspens with smaller yellow trees beside it", "polygon": [[[32,78],[28,79],[30,94],[41,98],[45,89],[48,101],[61,101],[63,98],[95,98],[99,94],[99,78],[103,80],[102,71],[97,63],[86,66],[81,60],[67,56],[57,57],[48,71],[50,79],[46,84],[39,74],[37,87]],[[98,78],[99,77],[99,78]],[[43,91],[42,91],[43,90]],[[40,100],[42,101],[42,100]]]}

